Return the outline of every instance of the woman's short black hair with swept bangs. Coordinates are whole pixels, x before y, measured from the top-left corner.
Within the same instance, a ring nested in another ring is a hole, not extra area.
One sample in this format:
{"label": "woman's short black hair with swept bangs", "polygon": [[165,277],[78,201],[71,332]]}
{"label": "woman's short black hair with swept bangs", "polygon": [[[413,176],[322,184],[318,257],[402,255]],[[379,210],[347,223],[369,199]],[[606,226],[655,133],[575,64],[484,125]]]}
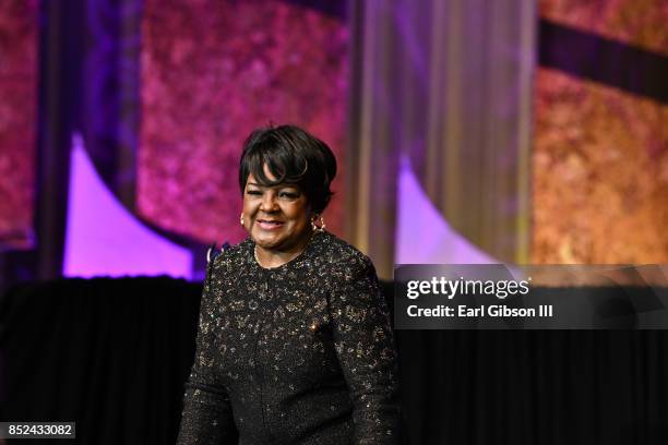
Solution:
{"label": "woman's short black hair with swept bangs", "polygon": [[[275,181],[264,175],[265,164]],[[336,176],[336,158],[327,144],[299,127],[261,128],[243,143],[239,161],[241,194],[250,173],[261,185],[297,185],[307,195],[311,209],[320,214],[333,195],[330,185]]]}

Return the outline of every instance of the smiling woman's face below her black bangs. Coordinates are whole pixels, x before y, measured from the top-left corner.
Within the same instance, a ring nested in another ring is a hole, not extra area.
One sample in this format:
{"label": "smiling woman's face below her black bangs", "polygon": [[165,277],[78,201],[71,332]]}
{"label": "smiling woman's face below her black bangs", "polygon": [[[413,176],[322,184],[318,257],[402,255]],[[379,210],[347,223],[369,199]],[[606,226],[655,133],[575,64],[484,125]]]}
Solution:
{"label": "smiling woman's face below her black bangs", "polygon": [[[266,166],[264,173],[275,179]],[[312,231],[307,197],[293,184],[261,185],[251,173],[243,191],[243,227],[262,249],[299,250]]]}

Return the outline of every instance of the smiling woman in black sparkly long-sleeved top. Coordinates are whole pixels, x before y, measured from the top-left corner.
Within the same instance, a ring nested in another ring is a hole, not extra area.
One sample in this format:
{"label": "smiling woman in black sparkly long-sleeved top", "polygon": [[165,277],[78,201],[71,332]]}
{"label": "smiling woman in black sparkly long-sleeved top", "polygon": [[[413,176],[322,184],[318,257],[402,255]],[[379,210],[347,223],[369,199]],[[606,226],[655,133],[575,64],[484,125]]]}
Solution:
{"label": "smiling woman in black sparkly long-sleeved top", "polygon": [[324,230],[336,160],[283,125],[239,170],[250,237],[210,264],[179,444],[395,444],[396,353],[370,260]]}

